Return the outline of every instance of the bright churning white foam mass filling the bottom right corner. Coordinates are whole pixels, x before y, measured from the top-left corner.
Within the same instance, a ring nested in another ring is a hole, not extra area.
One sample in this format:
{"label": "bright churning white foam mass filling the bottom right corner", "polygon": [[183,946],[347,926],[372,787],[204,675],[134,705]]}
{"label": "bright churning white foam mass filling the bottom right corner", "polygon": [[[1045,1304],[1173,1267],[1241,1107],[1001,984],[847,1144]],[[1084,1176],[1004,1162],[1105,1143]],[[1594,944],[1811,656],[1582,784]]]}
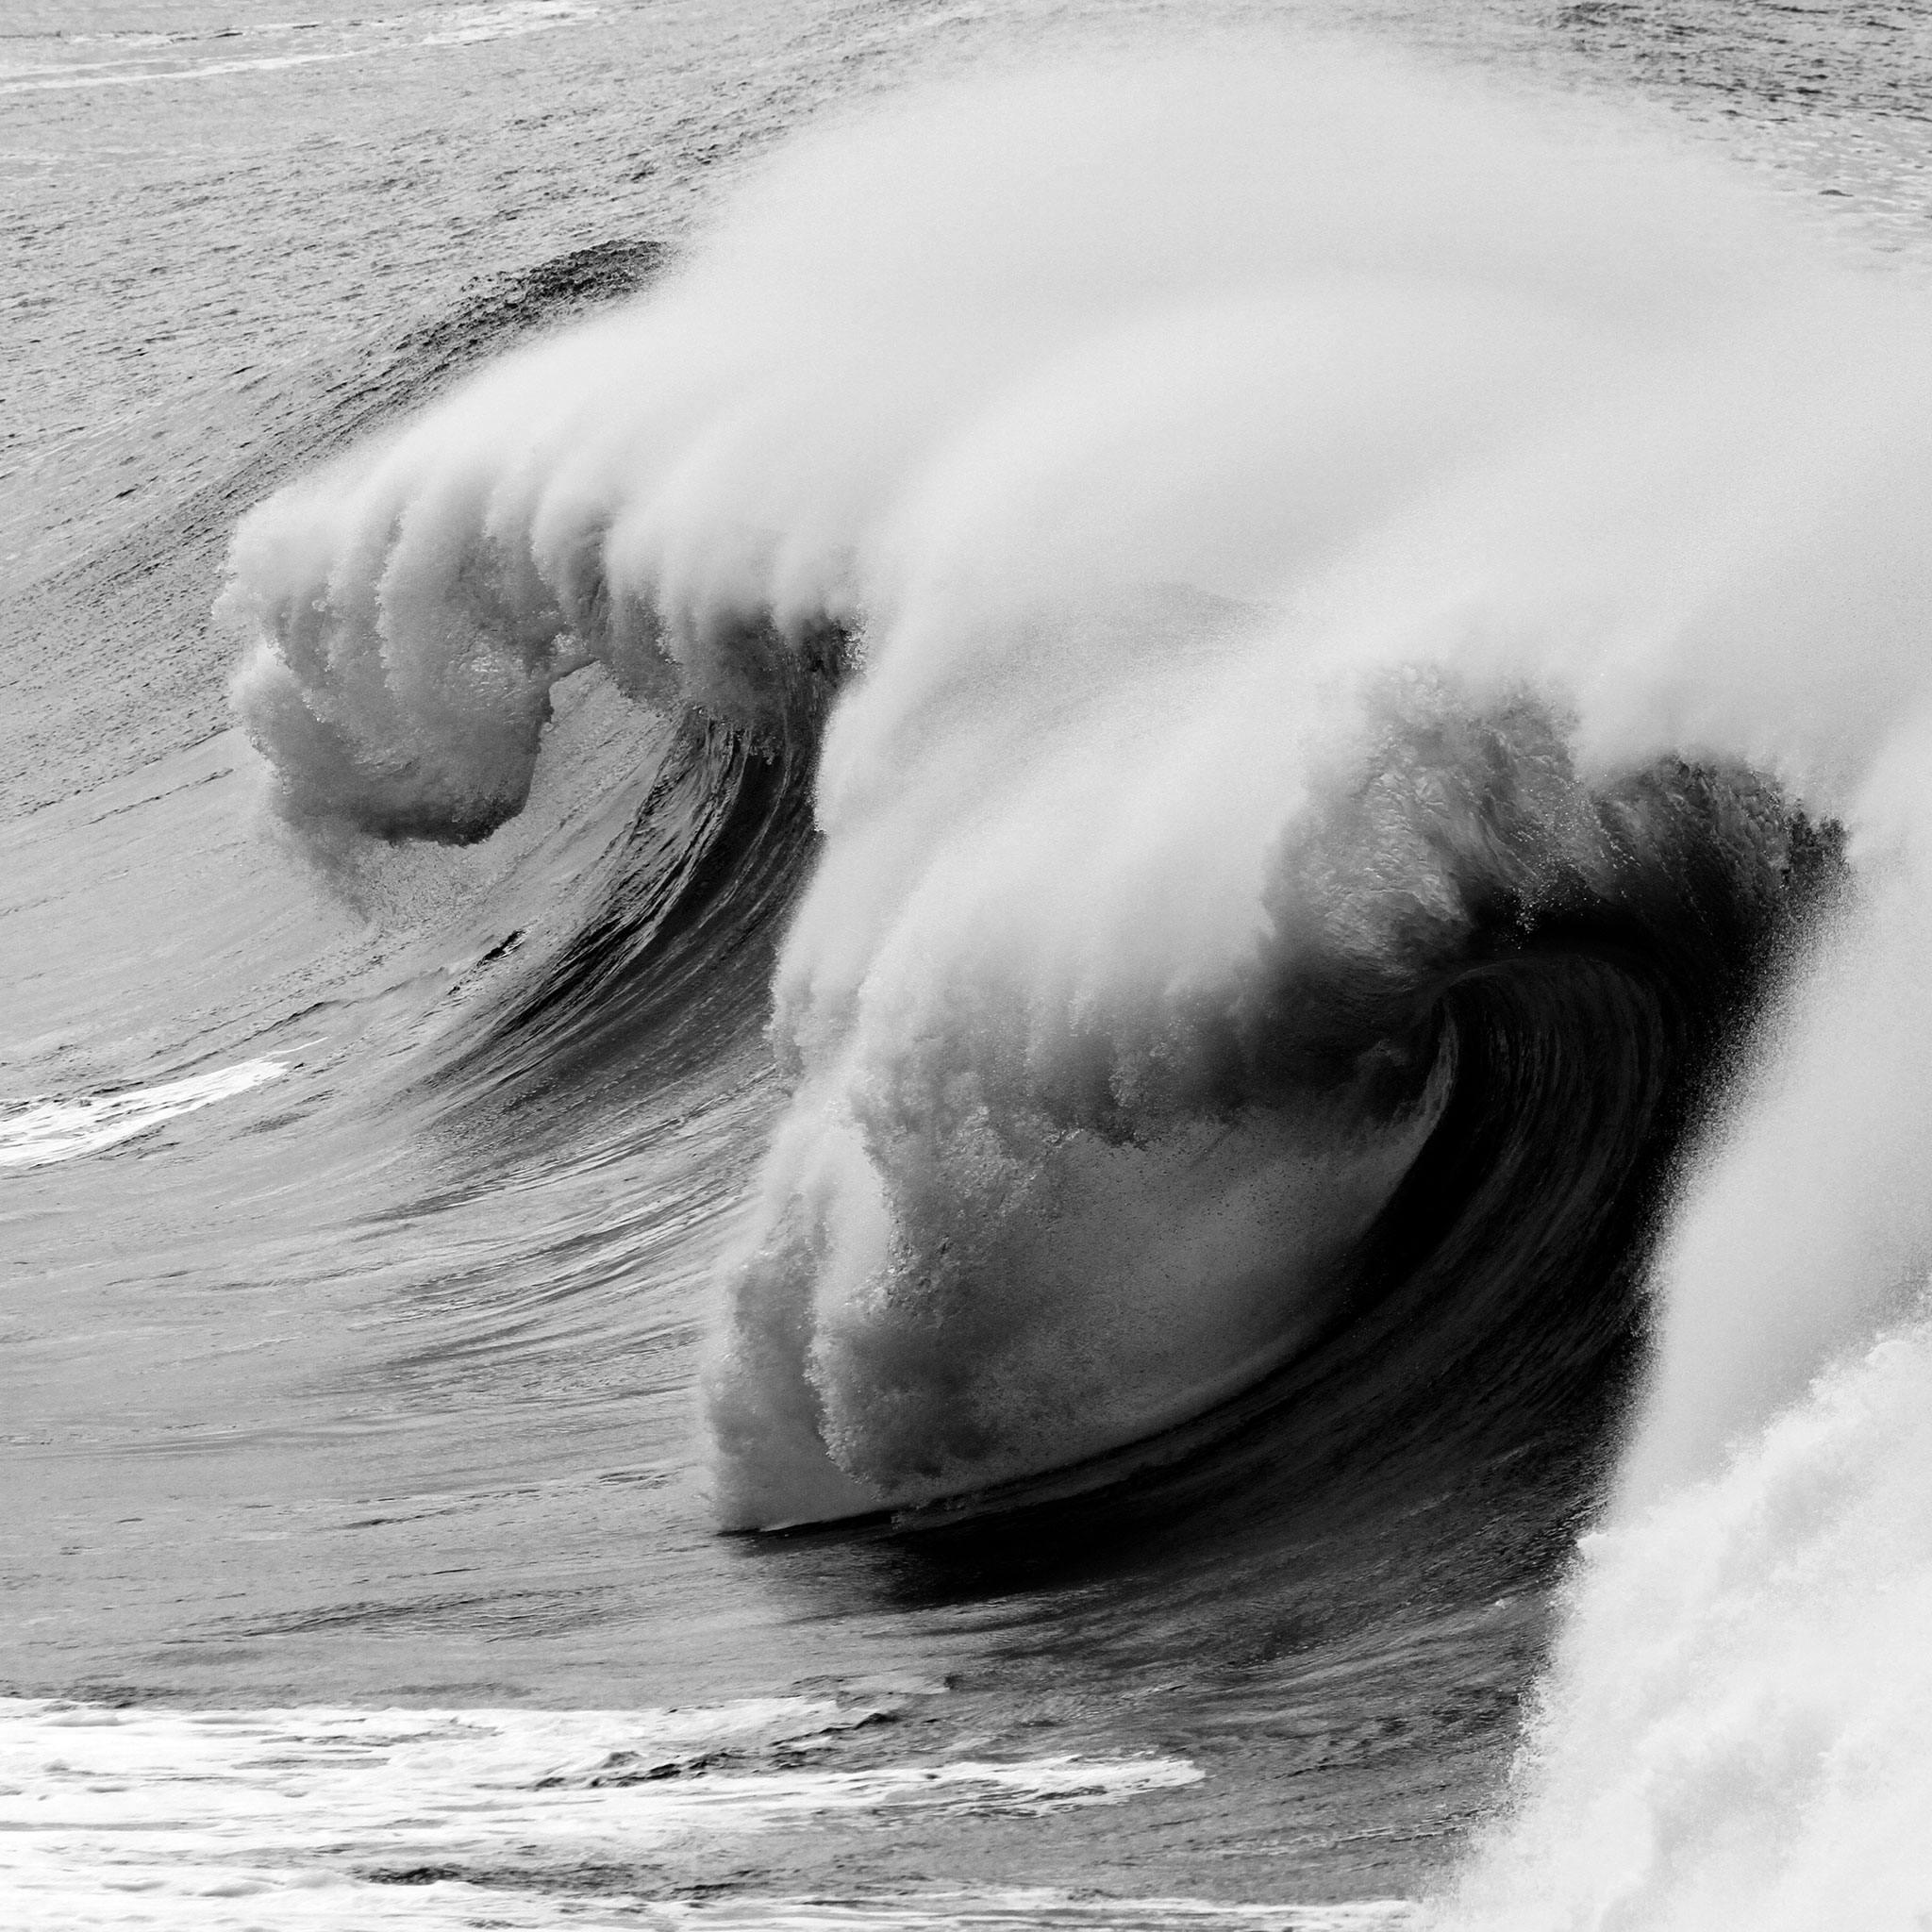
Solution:
{"label": "bright churning white foam mass filling the bottom right corner", "polygon": [[1430,1924],[1918,1932],[1932,1320],[1590,1538],[1515,1804]]}

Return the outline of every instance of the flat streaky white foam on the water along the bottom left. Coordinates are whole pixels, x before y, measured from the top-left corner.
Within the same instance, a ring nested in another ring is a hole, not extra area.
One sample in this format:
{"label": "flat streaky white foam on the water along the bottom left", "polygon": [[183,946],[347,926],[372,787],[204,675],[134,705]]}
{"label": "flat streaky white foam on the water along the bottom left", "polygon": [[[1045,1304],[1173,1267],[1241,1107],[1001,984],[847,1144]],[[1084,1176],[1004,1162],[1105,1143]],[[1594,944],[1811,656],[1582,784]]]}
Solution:
{"label": "flat streaky white foam on the water along the bottom left", "polygon": [[[1026,1818],[1202,1776],[1153,1756],[862,1770],[759,1760],[779,1743],[825,1743],[864,1716],[808,1698],[682,1712],[6,1700],[0,1889],[35,1928],[549,1926],[576,1922],[568,1872],[585,1861],[649,1866],[707,1845],[723,1861],[781,1826],[904,1812]],[[715,1764],[717,1754],[730,1756]],[[371,1876],[384,1872],[388,1882]],[[639,1903],[624,1888],[597,1897],[599,1909]],[[786,1909],[761,1907],[744,1922],[782,1924]]]}

